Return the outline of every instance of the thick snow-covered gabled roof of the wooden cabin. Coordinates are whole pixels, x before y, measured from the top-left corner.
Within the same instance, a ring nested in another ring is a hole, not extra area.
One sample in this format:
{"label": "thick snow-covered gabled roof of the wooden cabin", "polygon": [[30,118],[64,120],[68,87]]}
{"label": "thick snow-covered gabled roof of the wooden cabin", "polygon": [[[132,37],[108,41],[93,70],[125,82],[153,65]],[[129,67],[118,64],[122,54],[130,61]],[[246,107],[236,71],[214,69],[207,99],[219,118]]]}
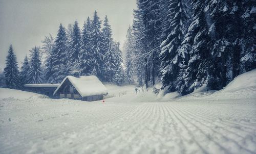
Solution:
{"label": "thick snow-covered gabled roof of the wooden cabin", "polygon": [[74,76],[67,76],[58,86],[58,88],[54,91],[53,95],[59,90],[61,85],[66,81],[69,80],[71,84],[76,88],[78,93],[82,97],[93,96],[93,95],[105,95],[108,94],[108,90],[102,84],[99,79],[94,76],[80,76],[76,78]]}

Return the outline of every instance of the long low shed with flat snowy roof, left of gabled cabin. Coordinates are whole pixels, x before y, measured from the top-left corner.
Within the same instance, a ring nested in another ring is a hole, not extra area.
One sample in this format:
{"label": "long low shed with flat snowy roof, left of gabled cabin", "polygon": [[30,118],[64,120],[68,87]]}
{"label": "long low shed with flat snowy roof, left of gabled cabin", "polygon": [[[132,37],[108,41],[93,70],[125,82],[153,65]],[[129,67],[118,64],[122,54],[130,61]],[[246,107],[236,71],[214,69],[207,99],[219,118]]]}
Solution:
{"label": "long low shed with flat snowy roof, left of gabled cabin", "polygon": [[25,84],[24,90],[53,97],[53,92],[60,84]]}

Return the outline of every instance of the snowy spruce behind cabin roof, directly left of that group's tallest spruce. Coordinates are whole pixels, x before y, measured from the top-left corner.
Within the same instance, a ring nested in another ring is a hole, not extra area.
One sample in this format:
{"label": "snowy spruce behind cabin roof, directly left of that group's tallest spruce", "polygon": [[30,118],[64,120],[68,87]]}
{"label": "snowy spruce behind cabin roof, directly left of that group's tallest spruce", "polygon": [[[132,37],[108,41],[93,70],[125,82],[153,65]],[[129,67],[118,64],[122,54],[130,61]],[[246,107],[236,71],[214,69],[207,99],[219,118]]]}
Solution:
{"label": "snowy spruce behind cabin roof, directly left of that group's tallest spruce", "polygon": [[90,41],[90,31],[88,29],[88,27],[90,26],[90,19],[87,23],[84,22],[82,29],[81,49],[79,53],[80,75],[89,75],[92,73],[93,69],[93,54],[91,50],[92,44]]}

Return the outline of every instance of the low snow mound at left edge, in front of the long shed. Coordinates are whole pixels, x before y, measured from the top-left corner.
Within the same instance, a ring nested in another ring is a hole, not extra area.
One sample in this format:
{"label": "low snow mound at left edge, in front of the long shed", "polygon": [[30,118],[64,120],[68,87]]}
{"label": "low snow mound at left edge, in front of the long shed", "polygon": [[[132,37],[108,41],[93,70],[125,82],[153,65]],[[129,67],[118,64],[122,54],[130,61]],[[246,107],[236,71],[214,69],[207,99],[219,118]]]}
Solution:
{"label": "low snow mound at left edge, in front of the long shed", "polygon": [[46,95],[41,95],[33,92],[27,92],[16,89],[0,88],[0,99],[14,98],[14,99],[29,99],[29,98],[49,98]]}

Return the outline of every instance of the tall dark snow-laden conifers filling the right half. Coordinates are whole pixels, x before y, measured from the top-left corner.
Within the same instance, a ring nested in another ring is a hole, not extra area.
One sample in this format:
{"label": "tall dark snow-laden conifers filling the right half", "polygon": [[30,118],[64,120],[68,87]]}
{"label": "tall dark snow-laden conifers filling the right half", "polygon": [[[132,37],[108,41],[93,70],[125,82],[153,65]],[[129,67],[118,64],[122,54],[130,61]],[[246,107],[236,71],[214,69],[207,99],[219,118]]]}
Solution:
{"label": "tall dark snow-laden conifers filling the right half", "polygon": [[148,87],[158,78],[162,89],[181,94],[203,85],[223,88],[256,68],[254,4],[137,0],[125,44],[126,81],[133,79],[132,74]]}

